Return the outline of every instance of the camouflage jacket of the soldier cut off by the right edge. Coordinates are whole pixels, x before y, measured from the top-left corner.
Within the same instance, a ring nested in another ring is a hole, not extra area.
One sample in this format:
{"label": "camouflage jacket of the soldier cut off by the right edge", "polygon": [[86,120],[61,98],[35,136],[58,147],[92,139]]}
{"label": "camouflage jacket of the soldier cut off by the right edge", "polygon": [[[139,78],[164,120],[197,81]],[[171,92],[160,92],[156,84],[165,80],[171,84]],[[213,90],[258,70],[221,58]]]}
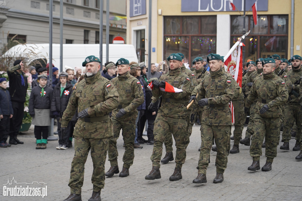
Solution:
{"label": "camouflage jacket of the soldier cut off by the right edge", "polygon": [[[295,85],[295,82],[300,79],[302,76],[302,68],[299,70],[295,70],[294,68],[288,71],[288,73],[283,73],[283,76],[287,74],[287,78],[291,81],[290,84],[293,86],[292,88],[288,87],[288,93],[291,93],[292,90],[296,91],[298,94],[300,93],[300,83],[298,85]],[[300,93],[301,94],[301,93]],[[291,104],[300,104],[299,97],[296,97],[294,94],[291,94],[291,100],[288,100],[288,103]]]}

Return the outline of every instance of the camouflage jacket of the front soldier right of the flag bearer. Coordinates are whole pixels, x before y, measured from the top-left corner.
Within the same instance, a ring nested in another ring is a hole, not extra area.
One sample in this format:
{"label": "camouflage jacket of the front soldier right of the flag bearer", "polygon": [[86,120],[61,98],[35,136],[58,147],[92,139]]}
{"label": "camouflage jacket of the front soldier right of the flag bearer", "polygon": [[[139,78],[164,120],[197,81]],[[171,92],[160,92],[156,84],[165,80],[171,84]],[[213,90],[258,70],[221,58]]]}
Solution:
{"label": "camouflage jacket of the front soldier right of the flag bearer", "polygon": [[288,100],[288,90],[285,82],[275,73],[259,76],[251,87],[245,106],[250,107],[256,100],[256,113],[259,113],[259,110],[265,104],[269,107],[269,110],[260,114],[260,116],[265,118],[280,117],[282,115],[281,105]]}

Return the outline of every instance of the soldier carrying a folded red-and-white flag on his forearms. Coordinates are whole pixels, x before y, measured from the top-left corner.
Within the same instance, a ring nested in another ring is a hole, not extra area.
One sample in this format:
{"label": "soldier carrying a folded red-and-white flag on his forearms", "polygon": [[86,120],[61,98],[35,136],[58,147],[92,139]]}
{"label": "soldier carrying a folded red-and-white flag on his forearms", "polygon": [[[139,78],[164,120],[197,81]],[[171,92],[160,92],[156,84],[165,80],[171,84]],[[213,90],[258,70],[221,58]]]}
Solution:
{"label": "soldier carrying a folded red-and-white flag on his forearms", "polygon": [[[159,81],[153,81],[152,94],[155,98],[162,96],[161,107],[154,122],[154,147],[151,155],[152,170],[145,179],[154,180],[161,178],[160,175],[160,158],[162,156],[162,143],[167,135],[173,134],[176,145],[175,170],[169,180],[176,181],[182,179],[182,164],[186,158],[186,133],[187,133],[187,117],[191,79],[185,73],[182,73],[182,57],[178,54],[171,54],[168,57],[170,62],[169,73],[162,75]],[[178,93],[162,91],[159,88],[165,88],[166,83],[175,88],[181,89]],[[149,108],[153,107],[155,100],[152,100]]]}

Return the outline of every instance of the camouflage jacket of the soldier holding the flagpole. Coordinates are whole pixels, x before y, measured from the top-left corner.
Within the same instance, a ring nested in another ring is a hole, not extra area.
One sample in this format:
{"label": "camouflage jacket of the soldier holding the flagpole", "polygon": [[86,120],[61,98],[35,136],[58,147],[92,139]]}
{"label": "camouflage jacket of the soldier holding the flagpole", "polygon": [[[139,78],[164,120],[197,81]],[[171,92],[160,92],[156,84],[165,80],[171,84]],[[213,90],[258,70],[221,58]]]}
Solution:
{"label": "camouflage jacket of the soldier holding the flagpole", "polygon": [[[196,101],[207,98],[201,122],[212,126],[232,125],[229,102],[234,96],[235,85],[232,76],[220,68],[217,72],[207,73],[199,85],[200,91]],[[192,95],[197,94],[197,90]]]}

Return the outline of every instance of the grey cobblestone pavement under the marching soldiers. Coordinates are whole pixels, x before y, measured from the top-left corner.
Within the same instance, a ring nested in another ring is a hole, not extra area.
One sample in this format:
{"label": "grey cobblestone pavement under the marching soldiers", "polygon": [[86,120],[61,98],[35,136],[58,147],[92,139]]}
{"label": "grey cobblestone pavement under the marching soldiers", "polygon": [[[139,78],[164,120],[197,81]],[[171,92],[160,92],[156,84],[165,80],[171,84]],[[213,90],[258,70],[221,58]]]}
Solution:
{"label": "grey cobblestone pavement under the marching soldiers", "polygon": [[[272,170],[248,171],[252,164],[249,146],[239,145],[240,153],[230,154],[224,173],[223,183],[213,183],[216,176],[216,152],[211,151],[211,163],[207,170],[207,183],[194,184],[197,176],[198,148],[201,144],[200,126],[194,126],[190,144],[187,148],[187,158],[182,166],[182,179],[169,181],[173,174],[174,161],[162,164],[161,179],[145,180],[151,171],[150,156],[152,145],[143,145],[143,149],[135,149],[133,166],[129,169],[130,176],[106,178],[105,188],[101,191],[102,200],[302,200],[302,161],[295,160],[299,154],[292,151],[295,140],[290,140],[290,150],[280,150],[272,164]],[[243,135],[246,127],[244,128]],[[121,135],[120,135],[121,136]],[[63,200],[69,195],[69,172],[74,150],[56,150],[57,141],[49,141],[47,149],[36,150],[33,126],[24,135],[18,136],[24,141],[23,145],[12,145],[0,148],[0,181],[6,184],[13,177],[18,183],[44,182],[47,183],[47,197],[5,197],[3,188],[0,200]],[[146,138],[146,137],[145,137]],[[233,146],[233,140],[231,140]],[[122,169],[124,153],[122,138],[117,141],[119,152],[118,163]],[[176,148],[173,146],[175,156]],[[265,148],[262,148],[265,152]],[[165,155],[165,152],[163,153]],[[107,157],[108,158],[108,157]],[[260,166],[265,164],[265,156],[260,157]],[[105,170],[110,167],[109,161]],[[88,200],[92,193],[92,160],[88,155],[85,165],[85,179],[82,187],[82,199]],[[25,184],[22,184],[25,186]],[[14,184],[12,185],[14,186]],[[43,187],[35,184],[30,187]],[[7,185],[9,187],[9,185]]]}

